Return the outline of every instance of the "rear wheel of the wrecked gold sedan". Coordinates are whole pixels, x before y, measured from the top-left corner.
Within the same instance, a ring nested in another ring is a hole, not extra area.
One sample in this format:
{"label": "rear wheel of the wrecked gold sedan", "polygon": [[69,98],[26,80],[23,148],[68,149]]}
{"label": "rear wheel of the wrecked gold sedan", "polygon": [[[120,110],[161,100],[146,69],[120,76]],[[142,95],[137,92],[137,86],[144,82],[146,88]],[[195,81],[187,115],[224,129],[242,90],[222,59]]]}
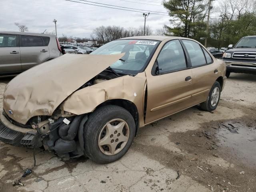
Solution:
{"label": "rear wheel of the wrecked gold sedan", "polygon": [[205,102],[200,103],[202,110],[205,110],[205,111],[215,110],[220,101],[220,92],[221,92],[220,83],[216,81],[214,82],[210,90],[207,100]]}

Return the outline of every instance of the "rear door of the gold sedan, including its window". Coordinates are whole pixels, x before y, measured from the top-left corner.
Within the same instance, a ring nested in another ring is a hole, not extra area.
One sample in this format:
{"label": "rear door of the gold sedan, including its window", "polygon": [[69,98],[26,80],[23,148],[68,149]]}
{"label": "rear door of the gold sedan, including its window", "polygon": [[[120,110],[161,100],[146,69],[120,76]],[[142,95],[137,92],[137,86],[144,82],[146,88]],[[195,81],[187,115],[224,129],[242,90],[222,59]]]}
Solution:
{"label": "rear door of the gold sedan, including its window", "polygon": [[182,40],[182,42],[191,63],[193,104],[198,104],[207,99],[210,89],[218,78],[218,66],[214,64],[213,58],[200,44],[192,40]]}

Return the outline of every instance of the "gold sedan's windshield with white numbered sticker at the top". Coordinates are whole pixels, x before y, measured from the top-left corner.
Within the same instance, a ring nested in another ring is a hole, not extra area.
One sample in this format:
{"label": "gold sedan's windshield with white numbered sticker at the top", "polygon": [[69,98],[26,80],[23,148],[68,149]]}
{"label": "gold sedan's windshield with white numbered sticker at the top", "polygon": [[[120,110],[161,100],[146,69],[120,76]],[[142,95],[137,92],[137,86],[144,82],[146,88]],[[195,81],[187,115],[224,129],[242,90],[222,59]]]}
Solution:
{"label": "gold sedan's windshield with white numbered sticker at the top", "polygon": [[148,58],[154,53],[158,44],[159,41],[155,40],[115,40],[94,50],[91,54],[124,53],[124,56],[110,67],[117,73],[138,74],[148,64]]}

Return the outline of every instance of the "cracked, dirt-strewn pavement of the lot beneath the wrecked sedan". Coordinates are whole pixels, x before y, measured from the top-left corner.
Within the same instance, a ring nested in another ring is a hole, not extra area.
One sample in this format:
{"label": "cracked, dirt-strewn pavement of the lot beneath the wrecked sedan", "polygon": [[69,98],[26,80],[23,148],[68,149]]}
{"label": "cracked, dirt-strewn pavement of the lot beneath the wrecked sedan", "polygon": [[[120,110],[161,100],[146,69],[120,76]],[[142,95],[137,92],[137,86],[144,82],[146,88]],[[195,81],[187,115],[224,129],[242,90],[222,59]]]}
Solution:
{"label": "cracked, dirt-strewn pavement of the lot beneath the wrecked sedan", "polygon": [[[0,108],[10,80],[0,79]],[[225,144],[234,135],[220,127],[239,120],[246,126],[237,136],[246,127],[246,139],[256,138],[255,93],[256,75],[231,74],[213,113],[195,106],[141,128],[128,153],[111,164],[36,150],[34,167],[32,149],[0,142],[0,192],[255,192],[256,156],[249,149],[256,141],[248,142],[248,156],[240,158],[245,140],[230,150]],[[26,168],[32,174],[22,178],[24,186],[12,186]]]}

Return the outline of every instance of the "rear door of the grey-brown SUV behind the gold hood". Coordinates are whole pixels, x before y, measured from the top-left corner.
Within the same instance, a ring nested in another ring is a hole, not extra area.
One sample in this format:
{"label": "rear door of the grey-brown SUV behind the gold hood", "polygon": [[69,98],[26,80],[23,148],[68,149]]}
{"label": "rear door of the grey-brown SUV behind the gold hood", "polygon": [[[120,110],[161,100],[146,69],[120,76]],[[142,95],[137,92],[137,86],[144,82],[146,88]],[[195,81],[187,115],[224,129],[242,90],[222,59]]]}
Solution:
{"label": "rear door of the grey-brown SUV behind the gold hood", "polygon": [[49,57],[49,48],[45,45],[42,37],[20,35],[22,71],[47,61]]}

